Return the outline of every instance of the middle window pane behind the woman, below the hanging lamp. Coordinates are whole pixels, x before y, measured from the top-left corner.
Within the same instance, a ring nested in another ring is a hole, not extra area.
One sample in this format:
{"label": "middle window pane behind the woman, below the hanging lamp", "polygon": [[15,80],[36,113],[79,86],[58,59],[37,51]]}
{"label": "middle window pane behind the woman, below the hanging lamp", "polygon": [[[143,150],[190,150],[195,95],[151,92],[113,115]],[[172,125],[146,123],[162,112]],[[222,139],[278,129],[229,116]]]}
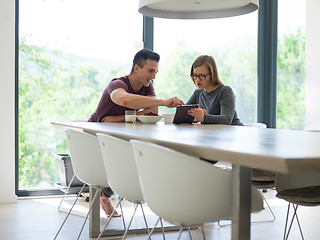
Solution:
{"label": "middle window pane behind the woman, below the hanging lamp", "polygon": [[244,123],[255,122],[257,14],[206,20],[155,18],[154,50],[161,56],[155,80],[157,95],[187,101],[196,89],[189,77],[193,61],[211,55],[222,82],[237,97],[238,117]]}

